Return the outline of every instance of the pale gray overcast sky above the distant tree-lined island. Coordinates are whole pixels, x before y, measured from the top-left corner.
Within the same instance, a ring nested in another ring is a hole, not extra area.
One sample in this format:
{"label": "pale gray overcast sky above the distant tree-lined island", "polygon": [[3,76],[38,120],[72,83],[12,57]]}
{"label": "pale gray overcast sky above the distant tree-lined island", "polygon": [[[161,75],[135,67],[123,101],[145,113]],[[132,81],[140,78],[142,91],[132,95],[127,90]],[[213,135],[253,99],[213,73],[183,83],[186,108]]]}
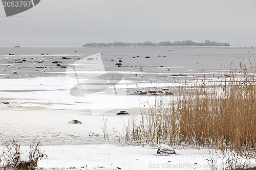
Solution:
{"label": "pale gray overcast sky above the distant tree-lined island", "polygon": [[256,45],[256,0],[41,0],[6,17],[0,46],[205,39]]}

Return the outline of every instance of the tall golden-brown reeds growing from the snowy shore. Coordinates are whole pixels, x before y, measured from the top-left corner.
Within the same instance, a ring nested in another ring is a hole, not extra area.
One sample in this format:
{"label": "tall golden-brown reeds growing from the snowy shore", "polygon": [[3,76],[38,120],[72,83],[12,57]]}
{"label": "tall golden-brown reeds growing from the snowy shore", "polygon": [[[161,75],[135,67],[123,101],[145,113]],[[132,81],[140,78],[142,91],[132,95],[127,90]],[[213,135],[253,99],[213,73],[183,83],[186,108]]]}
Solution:
{"label": "tall golden-brown reeds growing from the snowy shore", "polygon": [[186,143],[201,147],[253,153],[256,147],[255,64],[215,75],[214,81],[197,82],[164,104],[161,100],[132,118],[126,128],[126,142],[148,144]]}

